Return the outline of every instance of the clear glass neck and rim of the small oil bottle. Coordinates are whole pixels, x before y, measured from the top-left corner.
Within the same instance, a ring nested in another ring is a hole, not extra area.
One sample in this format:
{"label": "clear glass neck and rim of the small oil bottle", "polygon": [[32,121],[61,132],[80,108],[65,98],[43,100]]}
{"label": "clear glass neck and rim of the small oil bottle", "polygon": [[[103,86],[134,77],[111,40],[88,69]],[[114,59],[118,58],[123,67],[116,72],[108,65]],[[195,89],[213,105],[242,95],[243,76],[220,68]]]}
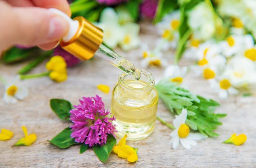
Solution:
{"label": "clear glass neck and rim of the small oil bottle", "polygon": [[118,84],[121,92],[131,99],[144,99],[155,87],[155,78],[145,69],[140,69],[142,74],[139,81],[136,81],[131,74],[121,73]]}

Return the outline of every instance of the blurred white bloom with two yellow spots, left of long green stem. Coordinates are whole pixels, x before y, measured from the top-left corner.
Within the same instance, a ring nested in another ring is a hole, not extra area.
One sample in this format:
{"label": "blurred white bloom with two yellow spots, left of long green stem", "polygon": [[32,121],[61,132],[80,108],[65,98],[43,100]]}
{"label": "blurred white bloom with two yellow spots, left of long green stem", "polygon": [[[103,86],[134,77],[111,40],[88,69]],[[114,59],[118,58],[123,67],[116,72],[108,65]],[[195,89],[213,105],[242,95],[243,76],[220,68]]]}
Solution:
{"label": "blurred white bloom with two yellow spots, left of long green stem", "polygon": [[157,34],[161,36],[157,40],[157,46],[167,51],[168,49],[175,49],[179,40],[178,28],[180,26],[180,11],[166,15],[163,20],[157,23]]}

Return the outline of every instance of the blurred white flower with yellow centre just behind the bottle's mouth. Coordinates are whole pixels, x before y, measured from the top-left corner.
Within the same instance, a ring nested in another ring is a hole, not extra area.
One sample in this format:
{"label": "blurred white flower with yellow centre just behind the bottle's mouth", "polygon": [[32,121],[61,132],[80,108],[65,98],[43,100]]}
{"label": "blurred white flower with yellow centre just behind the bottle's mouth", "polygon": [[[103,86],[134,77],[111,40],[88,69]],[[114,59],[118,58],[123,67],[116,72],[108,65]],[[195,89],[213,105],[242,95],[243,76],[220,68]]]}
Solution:
{"label": "blurred white flower with yellow centre just behind the bottle's mouth", "polygon": [[150,51],[148,45],[142,43],[139,56],[142,57],[141,67],[146,68],[149,65],[155,67],[167,66],[167,60],[163,58],[162,52],[158,50]]}

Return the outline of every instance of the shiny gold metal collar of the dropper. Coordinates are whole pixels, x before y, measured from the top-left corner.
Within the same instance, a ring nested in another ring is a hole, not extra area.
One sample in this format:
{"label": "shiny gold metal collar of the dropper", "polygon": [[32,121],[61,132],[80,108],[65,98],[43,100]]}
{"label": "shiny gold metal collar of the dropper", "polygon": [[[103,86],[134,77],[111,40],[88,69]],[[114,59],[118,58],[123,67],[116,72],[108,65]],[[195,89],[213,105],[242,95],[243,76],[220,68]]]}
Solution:
{"label": "shiny gold metal collar of the dropper", "polygon": [[103,42],[103,31],[82,16],[77,16],[73,20],[78,20],[79,22],[76,34],[67,42],[61,40],[60,45],[77,58],[88,60],[94,56],[94,53]]}

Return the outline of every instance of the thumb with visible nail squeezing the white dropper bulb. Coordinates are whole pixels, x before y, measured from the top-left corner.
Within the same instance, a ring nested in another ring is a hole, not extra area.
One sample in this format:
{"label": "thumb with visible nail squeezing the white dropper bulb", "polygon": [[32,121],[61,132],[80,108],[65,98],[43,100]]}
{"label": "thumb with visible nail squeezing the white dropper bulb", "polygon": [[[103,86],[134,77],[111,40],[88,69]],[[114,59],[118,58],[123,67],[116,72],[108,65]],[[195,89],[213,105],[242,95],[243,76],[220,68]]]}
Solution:
{"label": "thumb with visible nail squeezing the white dropper bulb", "polygon": [[[8,4],[2,5],[1,2],[0,21],[4,22],[0,25],[0,41],[4,41],[5,45],[8,45],[3,47],[14,44],[51,43],[65,36],[69,29],[68,22],[64,18],[47,9],[11,7]],[[1,45],[0,42],[0,49]]]}

